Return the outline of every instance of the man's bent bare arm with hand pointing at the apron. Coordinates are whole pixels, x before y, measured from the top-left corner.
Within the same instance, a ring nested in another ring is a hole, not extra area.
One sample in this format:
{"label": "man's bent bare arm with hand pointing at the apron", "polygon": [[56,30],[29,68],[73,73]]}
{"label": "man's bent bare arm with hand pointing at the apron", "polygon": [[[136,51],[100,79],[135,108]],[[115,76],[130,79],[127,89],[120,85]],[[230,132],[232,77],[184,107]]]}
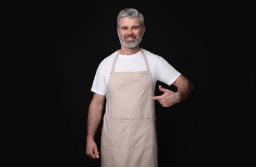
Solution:
{"label": "man's bent bare arm with hand pointing at the apron", "polygon": [[172,85],[177,87],[176,92],[165,89],[159,85],[159,89],[163,94],[161,96],[152,97],[152,100],[158,100],[163,107],[170,107],[188,98],[193,91],[192,83],[183,75],[180,75]]}

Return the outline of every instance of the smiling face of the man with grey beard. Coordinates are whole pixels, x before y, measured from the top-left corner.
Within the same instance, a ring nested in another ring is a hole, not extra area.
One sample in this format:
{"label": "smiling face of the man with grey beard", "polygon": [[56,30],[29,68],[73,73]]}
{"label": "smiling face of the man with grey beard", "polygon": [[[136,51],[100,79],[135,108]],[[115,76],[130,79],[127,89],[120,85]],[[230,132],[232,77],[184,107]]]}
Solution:
{"label": "smiling face of the man with grey beard", "polygon": [[120,43],[125,48],[135,48],[142,41],[145,27],[140,24],[139,18],[122,17],[117,28]]}

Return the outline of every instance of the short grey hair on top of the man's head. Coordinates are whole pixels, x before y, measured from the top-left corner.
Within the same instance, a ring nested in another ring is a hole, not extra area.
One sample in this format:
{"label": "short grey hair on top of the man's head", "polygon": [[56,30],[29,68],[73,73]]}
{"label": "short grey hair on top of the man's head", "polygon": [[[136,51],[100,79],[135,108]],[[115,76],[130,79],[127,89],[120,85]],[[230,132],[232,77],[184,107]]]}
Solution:
{"label": "short grey hair on top of the man's head", "polygon": [[117,27],[119,26],[119,21],[122,17],[129,17],[131,18],[139,18],[140,19],[140,25],[143,27],[144,25],[144,17],[142,13],[140,13],[138,10],[134,8],[125,8],[124,10],[121,10],[118,13],[117,16]]}

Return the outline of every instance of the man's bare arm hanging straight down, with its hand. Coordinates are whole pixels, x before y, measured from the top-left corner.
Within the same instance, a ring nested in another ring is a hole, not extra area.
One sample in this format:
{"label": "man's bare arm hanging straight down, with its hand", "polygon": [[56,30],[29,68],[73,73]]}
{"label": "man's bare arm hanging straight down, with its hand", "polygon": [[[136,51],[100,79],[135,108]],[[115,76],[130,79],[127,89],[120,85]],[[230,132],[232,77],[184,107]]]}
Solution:
{"label": "man's bare arm hanging straight down, with its hand", "polygon": [[102,119],[105,96],[93,94],[93,99],[89,105],[87,116],[87,137],[86,154],[92,159],[99,158],[97,145],[94,141],[96,130]]}

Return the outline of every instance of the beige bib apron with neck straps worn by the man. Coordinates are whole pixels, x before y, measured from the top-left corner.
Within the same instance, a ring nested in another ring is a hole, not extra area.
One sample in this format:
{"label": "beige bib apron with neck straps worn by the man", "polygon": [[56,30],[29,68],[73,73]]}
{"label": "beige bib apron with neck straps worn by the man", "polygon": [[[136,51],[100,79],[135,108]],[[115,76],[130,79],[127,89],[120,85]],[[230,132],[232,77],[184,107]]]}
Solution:
{"label": "beige bib apron with neck straps worn by the man", "polygon": [[156,116],[149,62],[147,71],[116,72],[107,84],[101,138],[102,167],[157,167]]}

